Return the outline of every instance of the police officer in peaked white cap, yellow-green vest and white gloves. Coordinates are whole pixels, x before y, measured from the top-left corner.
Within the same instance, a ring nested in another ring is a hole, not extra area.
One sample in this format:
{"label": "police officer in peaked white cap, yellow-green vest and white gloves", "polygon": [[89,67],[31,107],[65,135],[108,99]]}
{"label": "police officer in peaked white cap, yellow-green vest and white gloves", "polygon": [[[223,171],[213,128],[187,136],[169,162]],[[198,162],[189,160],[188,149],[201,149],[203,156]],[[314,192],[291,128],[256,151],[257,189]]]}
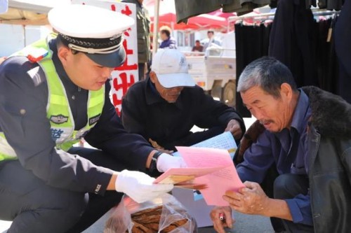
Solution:
{"label": "police officer in peaked white cap, yellow-green vest and white gloves", "polygon": [[[184,166],[127,133],[107,81],[123,64],[133,19],[111,10],[53,8],[58,35],[0,66],[0,219],[13,232],[82,232],[126,193],[145,202],[173,185],[140,171]],[[84,139],[95,149],[72,147]],[[131,171],[138,170],[138,171]]]}

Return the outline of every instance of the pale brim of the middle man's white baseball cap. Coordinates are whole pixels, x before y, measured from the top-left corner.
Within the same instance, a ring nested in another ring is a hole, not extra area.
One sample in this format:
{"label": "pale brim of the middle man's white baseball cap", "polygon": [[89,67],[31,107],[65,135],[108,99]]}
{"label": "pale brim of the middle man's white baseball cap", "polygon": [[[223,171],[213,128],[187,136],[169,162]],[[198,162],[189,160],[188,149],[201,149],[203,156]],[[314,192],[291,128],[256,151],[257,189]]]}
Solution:
{"label": "pale brim of the middle man's white baseball cap", "polygon": [[195,81],[189,73],[157,74],[157,79],[163,87],[194,87]]}

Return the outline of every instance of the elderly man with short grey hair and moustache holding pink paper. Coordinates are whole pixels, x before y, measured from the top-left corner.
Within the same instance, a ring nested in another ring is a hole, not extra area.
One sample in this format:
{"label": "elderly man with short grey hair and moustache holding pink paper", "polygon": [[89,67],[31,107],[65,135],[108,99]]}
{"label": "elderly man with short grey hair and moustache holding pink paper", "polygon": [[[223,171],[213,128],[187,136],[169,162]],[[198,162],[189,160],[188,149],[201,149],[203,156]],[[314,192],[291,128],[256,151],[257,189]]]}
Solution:
{"label": "elderly man with short grey hair and moustache holding pink paper", "polygon": [[[271,57],[246,66],[237,91],[265,131],[237,166],[246,187],[228,190],[228,206],[211,212],[217,232],[232,226],[231,208],[280,218],[287,232],[350,232],[351,105],[317,87],[298,89]],[[274,164],[279,176],[269,198],[258,183]]]}

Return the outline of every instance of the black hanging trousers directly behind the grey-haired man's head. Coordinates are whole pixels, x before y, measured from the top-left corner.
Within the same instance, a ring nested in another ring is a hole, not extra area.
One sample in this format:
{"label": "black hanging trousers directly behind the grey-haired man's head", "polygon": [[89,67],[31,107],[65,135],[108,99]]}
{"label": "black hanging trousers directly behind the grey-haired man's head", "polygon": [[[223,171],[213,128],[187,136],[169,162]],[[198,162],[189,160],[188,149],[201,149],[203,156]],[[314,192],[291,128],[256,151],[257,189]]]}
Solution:
{"label": "black hanging trousers directly behind the grey-haired man's head", "polygon": [[[235,24],[235,45],[237,48],[237,84],[244,68],[253,60],[268,55],[272,24],[259,26]],[[236,92],[236,109],[243,118],[251,118],[251,113],[243,105],[240,93]]]}

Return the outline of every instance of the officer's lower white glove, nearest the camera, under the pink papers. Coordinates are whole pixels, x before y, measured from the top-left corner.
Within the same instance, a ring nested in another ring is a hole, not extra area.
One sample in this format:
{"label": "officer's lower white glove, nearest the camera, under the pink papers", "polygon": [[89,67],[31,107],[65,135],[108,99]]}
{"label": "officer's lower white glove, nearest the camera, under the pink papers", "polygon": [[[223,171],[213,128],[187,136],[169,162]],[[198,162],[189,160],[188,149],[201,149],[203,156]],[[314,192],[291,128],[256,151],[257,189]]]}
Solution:
{"label": "officer's lower white glove, nearest the camera, under the pink papers", "polygon": [[159,197],[173,189],[171,184],[154,184],[154,178],[140,171],[121,171],[116,179],[116,191],[124,192],[141,203]]}

